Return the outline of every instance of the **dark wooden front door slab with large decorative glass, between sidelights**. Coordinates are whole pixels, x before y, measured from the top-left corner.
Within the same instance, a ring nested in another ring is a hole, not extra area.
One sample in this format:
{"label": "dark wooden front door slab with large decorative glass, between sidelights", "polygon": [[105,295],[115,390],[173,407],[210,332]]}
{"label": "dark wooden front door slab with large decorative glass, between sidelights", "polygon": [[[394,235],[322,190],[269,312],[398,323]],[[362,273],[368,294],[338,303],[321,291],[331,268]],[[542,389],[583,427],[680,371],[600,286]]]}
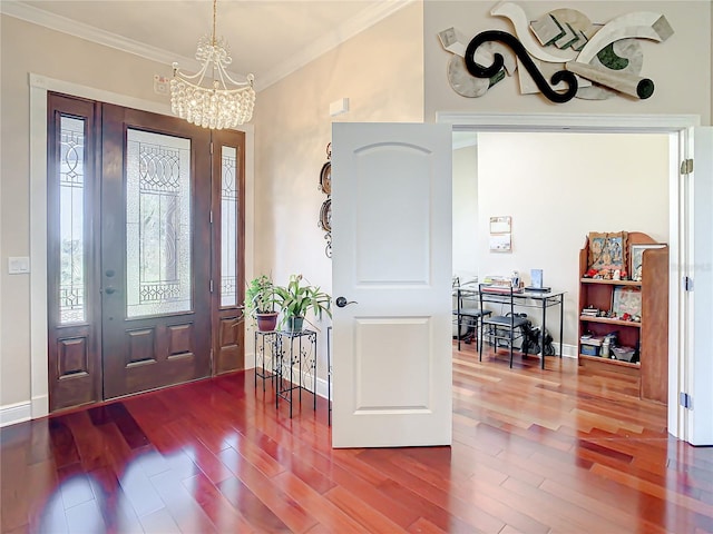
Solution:
{"label": "dark wooden front door slab with large decorative glass, between sidelights", "polygon": [[104,396],[211,373],[211,131],[102,110]]}

